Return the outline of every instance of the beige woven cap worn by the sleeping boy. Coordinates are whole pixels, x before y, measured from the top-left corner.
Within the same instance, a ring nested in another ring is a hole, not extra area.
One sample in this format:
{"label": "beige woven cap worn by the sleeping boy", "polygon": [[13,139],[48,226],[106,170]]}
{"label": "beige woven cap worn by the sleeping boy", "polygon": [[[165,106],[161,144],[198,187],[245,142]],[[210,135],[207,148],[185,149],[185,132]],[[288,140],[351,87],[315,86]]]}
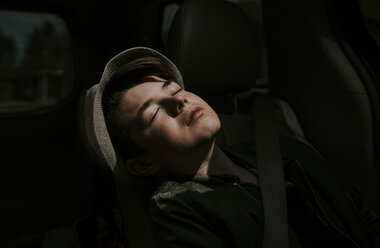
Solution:
{"label": "beige woven cap worn by the sleeping boy", "polygon": [[176,82],[183,87],[182,76],[177,67],[161,53],[147,48],[135,47],[127,49],[113,57],[105,66],[103,75],[98,84],[92,86],[86,94],[85,100],[85,127],[86,135],[91,147],[105,160],[112,172],[116,172],[116,165],[124,165],[121,157],[115,152],[108,134],[102,108],[102,96],[111,76],[117,69],[141,57],[157,57],[176,75]]}

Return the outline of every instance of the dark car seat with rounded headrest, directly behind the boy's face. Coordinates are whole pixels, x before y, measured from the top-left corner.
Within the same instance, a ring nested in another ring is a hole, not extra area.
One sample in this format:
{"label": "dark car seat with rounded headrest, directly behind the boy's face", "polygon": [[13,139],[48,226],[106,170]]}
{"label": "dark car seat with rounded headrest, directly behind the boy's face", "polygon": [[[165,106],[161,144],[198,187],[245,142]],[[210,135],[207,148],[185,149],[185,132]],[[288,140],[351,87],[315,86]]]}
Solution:
{"label": "dark car seat with rounded headrest, directly behind the boy's face", "polygon": [[[259,36],[245,13],[224,0],[185,0],[169,31],[166,55],[182,73],[186,89],[204,98],[218,113],[222,131],[217,141],[232,146],[253,138],[250,102],[266,65]],[[304,140],[290,106],[275,100],[280,134]]]}

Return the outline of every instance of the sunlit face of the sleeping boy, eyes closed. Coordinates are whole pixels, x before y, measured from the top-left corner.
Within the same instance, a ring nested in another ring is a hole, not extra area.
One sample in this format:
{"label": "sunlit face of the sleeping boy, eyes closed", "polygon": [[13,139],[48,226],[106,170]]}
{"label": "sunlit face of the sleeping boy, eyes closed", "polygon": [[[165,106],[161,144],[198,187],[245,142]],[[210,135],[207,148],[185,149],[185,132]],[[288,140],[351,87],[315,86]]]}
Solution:
{"label": "sunlit face of the sleeping boy, eyes closed", "polygon": [[175,82],[158,77],[129,89],[117,114],[144,157],[166,174],[194,174],[220,128],[215,111]]}

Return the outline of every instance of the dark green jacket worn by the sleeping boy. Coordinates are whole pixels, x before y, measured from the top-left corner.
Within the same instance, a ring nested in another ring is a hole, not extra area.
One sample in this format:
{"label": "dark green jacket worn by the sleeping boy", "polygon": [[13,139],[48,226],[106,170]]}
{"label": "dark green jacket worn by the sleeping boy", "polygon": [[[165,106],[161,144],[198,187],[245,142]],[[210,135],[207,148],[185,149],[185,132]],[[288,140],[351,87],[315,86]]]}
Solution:
{"label": "dark green jacket worn by the sleeping boy", "polygon": [[[282,138],[285,174],[309,192],[328,228],[356,247],[380,247],[380,220],[357,190],[328,169],[311,146]],[[254,144],[222,147],[240,165],[255,167]],[[255,185],[235,177],[165,181],[150,203],[157,248],[262,247],[264,213]],[[290,247],[301,247],[289,227]]]}

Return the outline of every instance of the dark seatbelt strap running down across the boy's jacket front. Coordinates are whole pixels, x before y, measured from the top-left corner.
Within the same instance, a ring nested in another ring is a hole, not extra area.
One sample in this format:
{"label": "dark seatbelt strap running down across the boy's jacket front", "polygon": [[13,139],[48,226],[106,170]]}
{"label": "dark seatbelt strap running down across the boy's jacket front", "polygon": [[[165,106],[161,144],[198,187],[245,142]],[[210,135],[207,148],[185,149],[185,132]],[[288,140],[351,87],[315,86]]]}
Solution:
{"label": "dark seatbelt strap running down across the boy's jacket front", "polygon": [[267,96],[256,94],[253,104],[256,162],[265,217],[263,248],[287,248],[285,178],[273,102]]}

